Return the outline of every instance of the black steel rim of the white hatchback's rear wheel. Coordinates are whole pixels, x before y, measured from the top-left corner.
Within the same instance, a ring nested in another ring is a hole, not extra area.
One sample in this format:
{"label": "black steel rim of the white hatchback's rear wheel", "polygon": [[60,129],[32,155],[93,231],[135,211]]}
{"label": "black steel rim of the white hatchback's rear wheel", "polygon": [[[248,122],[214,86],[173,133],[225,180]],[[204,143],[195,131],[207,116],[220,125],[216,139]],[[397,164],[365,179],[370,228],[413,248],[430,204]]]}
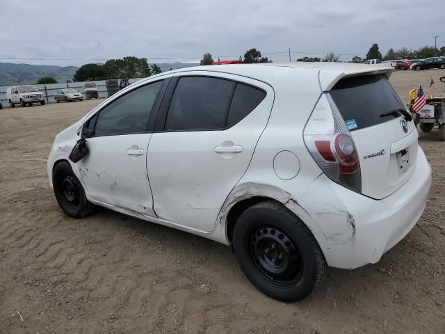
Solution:
{"label": "black steel rim of the white hatchback's rear wheel", "polygon": [[302,275],[302,257],[296,244],[272,225],[255,228],[250,233],[249,250],[257,272],[269,283],[289,287]]}

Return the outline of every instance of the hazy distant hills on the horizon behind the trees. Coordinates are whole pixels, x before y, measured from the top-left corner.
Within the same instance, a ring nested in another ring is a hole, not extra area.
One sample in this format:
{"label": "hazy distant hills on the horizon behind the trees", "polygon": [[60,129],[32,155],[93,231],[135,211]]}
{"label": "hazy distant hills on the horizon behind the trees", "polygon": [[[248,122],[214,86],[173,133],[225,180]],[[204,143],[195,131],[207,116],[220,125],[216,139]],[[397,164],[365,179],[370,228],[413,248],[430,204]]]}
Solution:
{"label": "hazy distant hills on the horizon behind the trees", "polygon": [[[150,63],[149,65],[152,65]],[[157,63],[162,72],[172,68],[197,66],[198,63]],[[54,66],[54,65],[29,65],[0,63],[0,86],[10,86],[15,84],[35,84],[42,77],[54,77],[58,82],[72,80],[72,76],[79,67],[76,66]]]}

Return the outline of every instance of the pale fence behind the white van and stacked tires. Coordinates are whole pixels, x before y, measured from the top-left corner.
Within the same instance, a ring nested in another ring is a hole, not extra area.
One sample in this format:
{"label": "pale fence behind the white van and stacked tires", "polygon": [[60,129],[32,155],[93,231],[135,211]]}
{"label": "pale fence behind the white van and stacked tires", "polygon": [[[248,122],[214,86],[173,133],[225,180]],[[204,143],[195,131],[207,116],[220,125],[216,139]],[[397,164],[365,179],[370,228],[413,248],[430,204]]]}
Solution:
{"label": "pale fence behind the white van and stacked tires", "polygon": [[[133,84],[136,81],[141,80],[142,78],[137,79],[129,79],[129,83]],[[108,94],[106,93],[106,86],[105,86],[105,80],[101,81],[94,81],[96,83],[97,87],[97,93],[99,93],[99,97],[108,97]],[[56,102],[54,100],[54,95],[56,95],[56,92],[63,88],[73,88],[80,93],[83,94],[85,98],[85,90],[83,90],[83,84],[85,82],[68,82],[64,84],[48,84],[48,85],[33,85],[39,88],[39,90],[43,93],[45,97],[46,102]],[[0,102],[3,104],[3,108],[6,106],[9,106],[8,99],[6,97],[6,88],[8,86],[0,86]]]}

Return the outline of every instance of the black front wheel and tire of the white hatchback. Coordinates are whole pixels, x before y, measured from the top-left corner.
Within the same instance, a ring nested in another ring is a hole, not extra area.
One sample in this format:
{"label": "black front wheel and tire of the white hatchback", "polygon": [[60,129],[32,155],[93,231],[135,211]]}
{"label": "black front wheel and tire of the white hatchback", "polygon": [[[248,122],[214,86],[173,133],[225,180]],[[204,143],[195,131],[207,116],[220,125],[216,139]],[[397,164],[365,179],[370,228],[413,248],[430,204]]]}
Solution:
{"label": "black front wheel and tire of the white hatchback", "polygon": [[83,186],[68,161],[54,167],[53,188],[60,209],[68,216],[82,218],[94,211],[94,205],[88,202]]}

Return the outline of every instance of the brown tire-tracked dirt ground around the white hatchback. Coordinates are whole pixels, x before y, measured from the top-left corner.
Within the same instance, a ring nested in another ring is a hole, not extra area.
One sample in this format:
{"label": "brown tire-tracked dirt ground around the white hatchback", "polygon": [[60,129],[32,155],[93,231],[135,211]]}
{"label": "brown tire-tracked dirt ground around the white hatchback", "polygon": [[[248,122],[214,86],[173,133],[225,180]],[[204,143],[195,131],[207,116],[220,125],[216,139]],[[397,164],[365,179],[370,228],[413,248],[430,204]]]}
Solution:
{"label": "brown tire-tracked dirt ground around the white hatchback", "polygon": [[[396,72],[409,88],[445,71]],[[300,303],[258,292],[216,242],[100,210],[60,212],[54,136],[99,101],[0,111],[0,333],[445,333],[445,143],[420,134],[433,183],[419,224],[378,264],[329,269]]]}

